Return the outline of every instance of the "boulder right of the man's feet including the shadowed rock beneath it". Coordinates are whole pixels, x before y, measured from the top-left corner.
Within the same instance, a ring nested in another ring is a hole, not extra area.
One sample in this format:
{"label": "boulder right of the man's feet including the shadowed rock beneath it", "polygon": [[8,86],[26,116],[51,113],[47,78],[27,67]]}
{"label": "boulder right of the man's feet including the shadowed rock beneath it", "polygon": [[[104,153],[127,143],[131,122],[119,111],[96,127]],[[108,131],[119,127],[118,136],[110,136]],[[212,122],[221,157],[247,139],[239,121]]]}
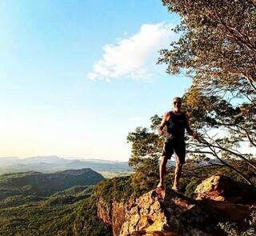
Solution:
{"label": "boulder right of the man's feet including the shadowed rock beneath it", "polygon": [[250,206],[256,205],[254,187],[222,175],[206,178],[194,193],[198,202],[214,208],[222,218],[233,222],[250,218]]}

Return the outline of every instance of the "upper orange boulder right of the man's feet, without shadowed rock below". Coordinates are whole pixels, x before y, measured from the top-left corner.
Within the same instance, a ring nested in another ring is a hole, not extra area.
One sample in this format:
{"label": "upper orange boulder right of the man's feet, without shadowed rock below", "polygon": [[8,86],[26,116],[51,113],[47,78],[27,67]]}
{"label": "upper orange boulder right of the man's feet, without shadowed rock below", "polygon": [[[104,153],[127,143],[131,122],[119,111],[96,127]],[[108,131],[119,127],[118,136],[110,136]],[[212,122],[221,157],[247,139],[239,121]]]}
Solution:
{"label": "upper orange boulder right of the man's feet, without shadowed rock below", "polygon": [[206,178],[194,191],[197,200],[210,199],[214,201],[234,202],[254,205],[256,195],[251,186],[222,175]]}

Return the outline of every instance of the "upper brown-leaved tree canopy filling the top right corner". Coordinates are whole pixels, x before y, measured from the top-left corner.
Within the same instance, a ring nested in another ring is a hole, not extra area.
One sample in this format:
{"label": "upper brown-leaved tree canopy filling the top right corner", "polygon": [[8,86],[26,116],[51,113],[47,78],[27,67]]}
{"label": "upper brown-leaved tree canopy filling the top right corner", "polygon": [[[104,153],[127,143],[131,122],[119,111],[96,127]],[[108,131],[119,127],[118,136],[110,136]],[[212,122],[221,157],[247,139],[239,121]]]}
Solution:
{"label": "upper brown-leaved tree canopy filling the top right corner", "polygon": [[[192,75],[194,84],[210,94],[226,91],[255,101],[256,3],[235,0],[162,0],[182,22],[182,33],[159,62],[167,72]],[[232,87],[232,89],[231,89]]]}

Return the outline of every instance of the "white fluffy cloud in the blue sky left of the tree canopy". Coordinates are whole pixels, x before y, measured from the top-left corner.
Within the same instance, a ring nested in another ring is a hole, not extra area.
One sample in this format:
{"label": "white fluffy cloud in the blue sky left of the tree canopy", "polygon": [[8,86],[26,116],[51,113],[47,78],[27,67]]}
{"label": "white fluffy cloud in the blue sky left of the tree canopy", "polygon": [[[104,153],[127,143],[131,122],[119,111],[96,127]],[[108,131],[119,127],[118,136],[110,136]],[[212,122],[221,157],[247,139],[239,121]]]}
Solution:
{"label": "white fluffy cloud in the blue sky left of the tree canopy", "polygon": [[148,79],[152,76],[158,50],[174,40],[174,32],[165,23],[145,24],[137,34],[118,38],[103,47],[103,55],[87,74],[92,80],[113,78]]}

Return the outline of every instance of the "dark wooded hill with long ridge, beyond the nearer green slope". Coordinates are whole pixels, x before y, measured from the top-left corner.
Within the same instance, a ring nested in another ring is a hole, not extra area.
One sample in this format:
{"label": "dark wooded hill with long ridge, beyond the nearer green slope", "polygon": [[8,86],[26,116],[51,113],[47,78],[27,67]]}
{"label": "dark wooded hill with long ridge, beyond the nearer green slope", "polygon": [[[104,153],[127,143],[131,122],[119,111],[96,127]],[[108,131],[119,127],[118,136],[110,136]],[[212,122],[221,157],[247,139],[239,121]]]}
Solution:
{"label": "dark wooded hill with long ridge, beyond the nearer green slope", "polygon": [[103,177],[90,168],[64,170],[54,174],[22,172],[0,175],[0,200],[34,195],[46,197],[73,186],[89,186],[102,181]]}

